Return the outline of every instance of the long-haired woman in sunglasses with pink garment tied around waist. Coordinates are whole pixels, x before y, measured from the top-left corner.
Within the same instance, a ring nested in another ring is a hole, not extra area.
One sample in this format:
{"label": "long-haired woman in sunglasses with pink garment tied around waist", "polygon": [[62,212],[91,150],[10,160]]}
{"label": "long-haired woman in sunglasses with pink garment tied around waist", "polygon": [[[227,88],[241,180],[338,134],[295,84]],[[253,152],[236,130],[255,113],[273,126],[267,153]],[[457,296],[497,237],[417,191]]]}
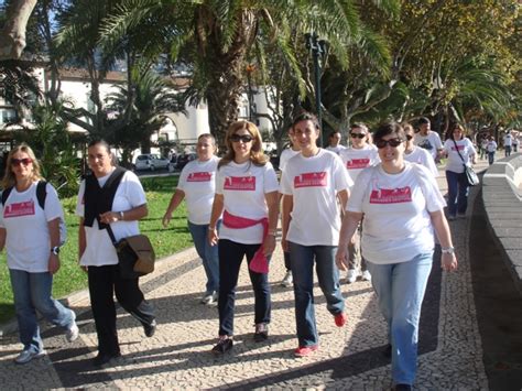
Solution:
{"label": "long-haired woman in sunglasses with pink garment tied around waist", "polygon": [[252,122],[233,122],[225,142],[228,151],[218,164],[208,227],[208,240],[218,245],[219,251],[219,340],[213,348],[216,355],[227,352],[233,345],[236,287],[243,257],[255,296],[253,338],[263,341],[269,336],[268,262],[275,248],[279,215],[278,177],[263,153],[259,129]]}

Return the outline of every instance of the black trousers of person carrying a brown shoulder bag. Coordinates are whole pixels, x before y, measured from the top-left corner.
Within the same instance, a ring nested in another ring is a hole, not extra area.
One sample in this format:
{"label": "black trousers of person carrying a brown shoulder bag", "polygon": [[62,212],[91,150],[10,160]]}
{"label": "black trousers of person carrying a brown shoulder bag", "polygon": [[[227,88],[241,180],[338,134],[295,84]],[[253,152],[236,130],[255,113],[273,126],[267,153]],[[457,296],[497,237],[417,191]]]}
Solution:
{"label": "black trousers of person carrying a brown shoulder bag", "polygon": [[142,325],[154,321],[152,305],[140,291],[138,279],[123,280],[118,264],[88,267],[90,305],[98,335],[98,350],[105,355],[120,352],[116,330],[116,305],[118,303]]}

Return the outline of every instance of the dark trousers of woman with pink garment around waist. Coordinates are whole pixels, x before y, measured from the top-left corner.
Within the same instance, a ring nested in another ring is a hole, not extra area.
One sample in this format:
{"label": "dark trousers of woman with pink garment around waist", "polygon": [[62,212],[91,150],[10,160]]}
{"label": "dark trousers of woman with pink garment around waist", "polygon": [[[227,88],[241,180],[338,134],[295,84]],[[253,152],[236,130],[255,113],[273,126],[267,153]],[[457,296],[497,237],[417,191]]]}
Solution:
{"label": "dark trousers of woman with pink garment around waist", "polygon": [[[233,335],[233,308],[236,305],[236,287],[243,257],[247,263],[253,258],[261,245],[242,245],[231,240],[219,240],[219,335]],[[270,323],[270,285],[269,275],[252,272],[249,269],[255,304],[254,323]]]}

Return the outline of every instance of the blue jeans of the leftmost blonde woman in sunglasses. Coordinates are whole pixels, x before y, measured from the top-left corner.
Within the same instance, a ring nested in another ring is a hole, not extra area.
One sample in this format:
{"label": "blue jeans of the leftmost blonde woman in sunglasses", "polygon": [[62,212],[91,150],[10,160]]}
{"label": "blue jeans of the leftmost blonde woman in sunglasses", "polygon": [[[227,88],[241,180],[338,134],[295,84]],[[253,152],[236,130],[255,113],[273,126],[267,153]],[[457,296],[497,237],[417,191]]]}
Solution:
{"label": "blue jeans of the leftmost blonde woman in sunglasses", "polygon": [[14,296],[20,341],[23,349],[35,352],[43,350],[42,337],[36,319],[36,311],[50,323],[67,329],[73,325],[73,311],[51,297],[53,275],[48,272],[29,273],[9,269]]}

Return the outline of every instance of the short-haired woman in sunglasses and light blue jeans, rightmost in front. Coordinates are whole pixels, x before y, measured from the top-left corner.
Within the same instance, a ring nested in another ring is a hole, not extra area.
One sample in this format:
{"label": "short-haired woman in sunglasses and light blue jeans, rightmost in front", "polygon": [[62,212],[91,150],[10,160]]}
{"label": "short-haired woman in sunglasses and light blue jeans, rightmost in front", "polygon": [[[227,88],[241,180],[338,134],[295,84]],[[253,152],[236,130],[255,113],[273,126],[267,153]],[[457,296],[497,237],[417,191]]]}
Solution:
{"label": "short-haired woman in sunglasses and light blue jeans, rightmost in front", "polygon": [[442,268],[457,269],[445,202],[434,176],[404,161],[405,133],[396,122],[373,134],[381,163],[357,177],[342,220],[336,262],[348,265],[346,248],[362,221],[362,248],[379,307],[388,324],[395,390],[415,380],[421,306],[432,270],[434,230],[442,246]]}

